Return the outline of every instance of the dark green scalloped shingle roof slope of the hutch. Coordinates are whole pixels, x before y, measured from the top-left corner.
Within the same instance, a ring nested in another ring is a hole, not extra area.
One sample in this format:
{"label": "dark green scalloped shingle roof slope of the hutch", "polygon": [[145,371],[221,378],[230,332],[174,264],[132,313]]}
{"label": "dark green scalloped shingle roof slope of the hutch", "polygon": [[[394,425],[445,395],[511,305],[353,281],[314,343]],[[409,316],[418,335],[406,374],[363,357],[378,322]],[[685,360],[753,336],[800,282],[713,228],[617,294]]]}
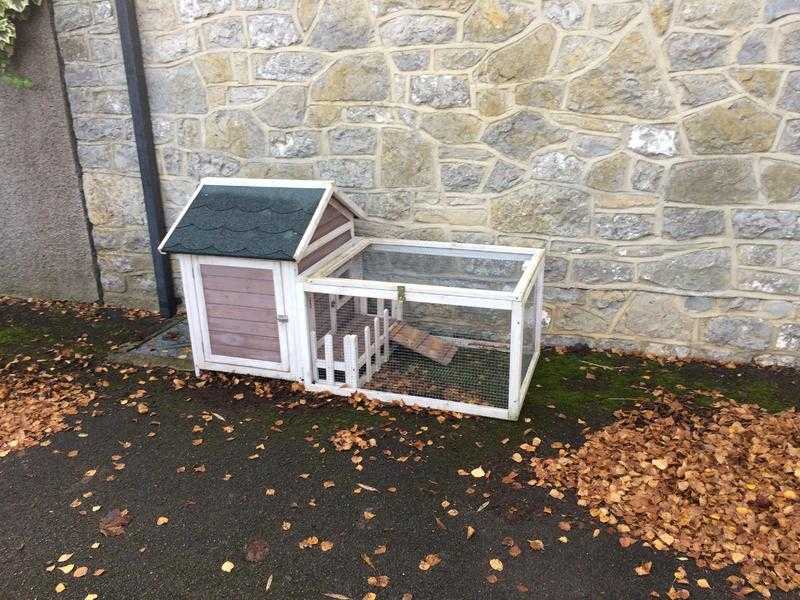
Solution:
{"label": "dark green scalloped shingle roof slope of the hutch", "polygon": [[205,185],[164,253],[293,260],[324,188]]}

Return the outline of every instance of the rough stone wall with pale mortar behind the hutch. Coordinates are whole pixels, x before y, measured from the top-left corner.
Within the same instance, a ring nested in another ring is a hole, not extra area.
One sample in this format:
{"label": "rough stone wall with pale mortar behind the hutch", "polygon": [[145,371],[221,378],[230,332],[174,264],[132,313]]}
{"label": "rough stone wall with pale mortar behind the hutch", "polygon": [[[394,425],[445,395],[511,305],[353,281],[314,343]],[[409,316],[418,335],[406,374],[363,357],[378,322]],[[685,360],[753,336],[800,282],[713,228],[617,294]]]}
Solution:
{"label": "rough stone wall with pale mortar behind the hutch", "polygon": [[[150,303],[112,4],[56,18],[103,285]],[[800,366],[800,0],[138,0],[170,218],[335,180],[367,235],[546,247],[549,342]]]}

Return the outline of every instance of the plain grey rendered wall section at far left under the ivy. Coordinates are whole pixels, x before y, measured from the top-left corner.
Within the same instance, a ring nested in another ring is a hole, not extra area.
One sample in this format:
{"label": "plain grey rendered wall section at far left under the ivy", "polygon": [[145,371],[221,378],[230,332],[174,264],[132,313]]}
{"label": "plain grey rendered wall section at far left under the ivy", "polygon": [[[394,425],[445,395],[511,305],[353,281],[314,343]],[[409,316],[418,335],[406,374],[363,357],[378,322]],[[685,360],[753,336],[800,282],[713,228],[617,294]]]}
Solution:
{"label": "plain grey rendered wall section at far left under the ivy", "polygon": [[0,294],[92,302],[97,279],[48,7],[17,34],[12,67],[33,85],[0,83]]}

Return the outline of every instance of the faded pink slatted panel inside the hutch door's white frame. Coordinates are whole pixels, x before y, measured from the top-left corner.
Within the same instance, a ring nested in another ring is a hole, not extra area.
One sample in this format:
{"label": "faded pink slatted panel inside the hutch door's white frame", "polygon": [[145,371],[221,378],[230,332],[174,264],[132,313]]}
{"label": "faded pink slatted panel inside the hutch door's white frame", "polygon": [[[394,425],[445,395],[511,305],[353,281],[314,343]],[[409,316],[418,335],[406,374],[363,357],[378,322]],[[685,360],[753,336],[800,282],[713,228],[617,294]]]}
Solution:
{"label": "faded pink slatted panel inside the hutch door's white frame", "polygon": [[201,265],[211,353],[281,362],[272,269]]}

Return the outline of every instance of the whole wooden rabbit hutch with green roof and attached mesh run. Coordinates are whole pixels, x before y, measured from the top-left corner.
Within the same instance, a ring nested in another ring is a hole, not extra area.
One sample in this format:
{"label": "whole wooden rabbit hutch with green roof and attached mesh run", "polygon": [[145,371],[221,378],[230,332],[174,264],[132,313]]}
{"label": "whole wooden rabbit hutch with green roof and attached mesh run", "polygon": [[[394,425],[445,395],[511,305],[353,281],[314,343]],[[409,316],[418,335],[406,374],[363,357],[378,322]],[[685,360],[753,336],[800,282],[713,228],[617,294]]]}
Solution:
{"label": "whole wooden rabbit hutch with green roof and attached mesh run", "polygon": [[544,252],[361,238],[331,181],[205,178],[159,246],[195,371],[501,419],[539,357]]}

